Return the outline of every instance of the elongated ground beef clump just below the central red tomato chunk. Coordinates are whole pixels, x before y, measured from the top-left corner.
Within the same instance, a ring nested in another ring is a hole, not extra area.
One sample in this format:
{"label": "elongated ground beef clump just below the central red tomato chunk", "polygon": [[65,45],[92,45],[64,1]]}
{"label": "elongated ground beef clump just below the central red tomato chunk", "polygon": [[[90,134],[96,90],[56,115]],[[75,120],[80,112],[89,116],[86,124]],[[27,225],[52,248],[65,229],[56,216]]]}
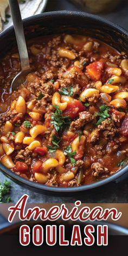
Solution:
{"label": "elongated ground beef clump just below the central red tomato chunk", "polygon": [[72,121],[69,130],[79,130],[82,126],[93,120],[93,115],[88,111],[80,112],[79,118],[76,121]]}

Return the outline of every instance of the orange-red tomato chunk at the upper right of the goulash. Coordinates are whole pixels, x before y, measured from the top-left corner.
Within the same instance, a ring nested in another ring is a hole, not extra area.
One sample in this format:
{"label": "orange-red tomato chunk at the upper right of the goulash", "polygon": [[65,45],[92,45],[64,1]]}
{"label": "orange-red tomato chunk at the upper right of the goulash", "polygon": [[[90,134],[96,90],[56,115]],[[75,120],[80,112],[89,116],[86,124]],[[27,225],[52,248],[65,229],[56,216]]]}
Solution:
{"label": "orange-red tomato chunk at the upper right of the goulash", "polygon": [[101,71],[103,70],[103,68],[103,61],[95,61],[86,67],[86,71],[92,80],[98,81],[100,80]]}

